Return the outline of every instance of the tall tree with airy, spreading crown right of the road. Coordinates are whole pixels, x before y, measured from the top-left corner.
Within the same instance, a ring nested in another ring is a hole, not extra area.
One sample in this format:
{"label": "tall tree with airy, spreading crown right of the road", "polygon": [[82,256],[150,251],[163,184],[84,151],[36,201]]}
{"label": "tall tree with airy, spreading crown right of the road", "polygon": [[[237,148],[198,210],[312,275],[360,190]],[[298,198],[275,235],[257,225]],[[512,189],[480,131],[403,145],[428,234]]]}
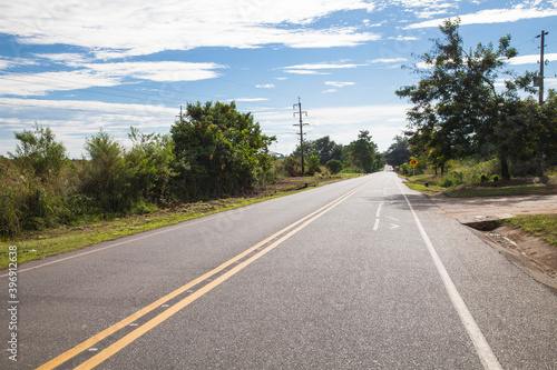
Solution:
{"label": "tall tree with airy, spreading crown right of the road", "polygon": [[[517,143],[527,130],[518,91],[532,92],[532,73],[517,77],[506,69],[517,56],[510,36],[500,38],[497,49],[478,43],[466,52],[459,23],[447,20],[440,26],[444,38],[434,40],[433,50],[420,57],[428,68],[416,70],[423,78],[397,94],[413,103],[408,113],[413,142],[432,151],[441,169],[453,158],[497,156],[507,179],[509,156],[519,153],[524,146]],[[506,78],[502,89],[496,87],[500,76]]]}

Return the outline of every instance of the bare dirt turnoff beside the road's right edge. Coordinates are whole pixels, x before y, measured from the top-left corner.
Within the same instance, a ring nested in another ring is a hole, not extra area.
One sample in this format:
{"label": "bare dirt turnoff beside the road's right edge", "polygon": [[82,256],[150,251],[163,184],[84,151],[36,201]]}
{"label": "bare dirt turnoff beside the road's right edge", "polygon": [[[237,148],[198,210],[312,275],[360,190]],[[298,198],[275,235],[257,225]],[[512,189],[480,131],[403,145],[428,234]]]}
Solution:
{"label": "bare dirt turnoff beside the road's right edge", "polygon": [[497,220],[520,214],[557,213],[557,196],[448,198],[430,196],[439,212],[472,227],[477,233],[532,278],[557,293],[557,248]]}

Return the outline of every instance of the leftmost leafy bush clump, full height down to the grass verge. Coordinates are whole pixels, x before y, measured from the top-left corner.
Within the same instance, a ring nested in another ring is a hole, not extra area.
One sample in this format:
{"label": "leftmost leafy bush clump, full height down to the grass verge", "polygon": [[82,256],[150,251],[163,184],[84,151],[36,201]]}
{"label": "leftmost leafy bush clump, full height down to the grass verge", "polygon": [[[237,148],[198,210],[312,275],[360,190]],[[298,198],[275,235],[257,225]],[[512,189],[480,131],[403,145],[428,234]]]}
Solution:
{"label": "leftmost leafy bush clump, full height down to the grass verge", "polygon": [[0,233],[18,236],[67,222],[72,216],[67,198],[75,189],[70,161],[50,128],[16,133],[20,143],[12,160],[0,164]]}

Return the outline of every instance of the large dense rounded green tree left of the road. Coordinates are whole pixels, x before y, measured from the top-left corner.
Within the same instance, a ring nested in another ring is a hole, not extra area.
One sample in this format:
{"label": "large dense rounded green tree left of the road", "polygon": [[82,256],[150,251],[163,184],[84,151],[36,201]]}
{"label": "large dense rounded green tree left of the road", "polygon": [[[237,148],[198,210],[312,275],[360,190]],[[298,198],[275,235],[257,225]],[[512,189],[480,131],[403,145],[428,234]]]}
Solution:
{"label": "large dense rounded green tree left of the road", "polygon": [[268,146],[276,138],[263,134],[253,116],[240,113],[234,102],[188,103],[170,134],[180,198],[241,193],[272,172]]}

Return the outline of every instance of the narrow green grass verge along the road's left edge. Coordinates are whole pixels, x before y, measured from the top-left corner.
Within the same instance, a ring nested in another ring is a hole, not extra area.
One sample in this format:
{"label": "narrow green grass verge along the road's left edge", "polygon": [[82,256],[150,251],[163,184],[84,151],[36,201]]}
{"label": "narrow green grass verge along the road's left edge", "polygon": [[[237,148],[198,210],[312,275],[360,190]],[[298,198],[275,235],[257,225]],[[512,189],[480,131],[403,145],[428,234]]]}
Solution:
{"label": "narrow green grass verge along the road's left edge", "polygon": [[0,269],[8,268],[10,246],[17,247],[18,264],[21,264],[49,256],[78,250],[102,241],[176,224],[358,176],[286,178],[277,184],[260,189],[260,191],[248,198],[227,198],[207,202],[186,203],[175,209],[160,210],[149,214],[129,216],[110,221],[86,223],[79,227],[61,227],[29,232],[20,238],[0,241]]}

